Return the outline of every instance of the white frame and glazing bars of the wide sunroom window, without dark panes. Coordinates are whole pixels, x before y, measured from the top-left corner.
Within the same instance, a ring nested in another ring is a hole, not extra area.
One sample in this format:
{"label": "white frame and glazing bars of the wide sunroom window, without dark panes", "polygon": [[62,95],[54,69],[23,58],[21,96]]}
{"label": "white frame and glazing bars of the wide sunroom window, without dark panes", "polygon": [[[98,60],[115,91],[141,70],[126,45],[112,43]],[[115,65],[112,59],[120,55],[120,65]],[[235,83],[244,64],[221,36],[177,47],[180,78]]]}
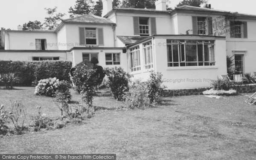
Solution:
{"label": "white frame and glazing bars of the wide sunroom window, without dark panes", "polygon": [[[168,41],[171,43],[168,43]],[[192,43],[190,43],[192,42]],[[214,46],[215,41],[200,41],[200,40],[187,40],[184,44],[184,53],[185,53],[185,61],[182,61],[181,59],[181,53],[180,48],[182,47],[184,43],[180,43],[180,41],[177,40],[167,40],[167,66],[168,67],[191,67],[191,66],[197,66],[197,67],[204,67],[204,66],[215,66],[215,52],[214,52]],[[174,56],[174,45],[177,47],[176,55]],[[186,55],[189,54],[189,51],[187,51],[187,46],[189,45],[196,45],[196,61],[187,61]],[[202,53],[199,52],[198,46],[201,45],[202,47]],[[171,52],[170,48],[171,47]],[[205,47],[207,47],[208,51],[205,51]],[[171,54],[171,55],[170,55]],[[206,56],[207,54],[207,56]],[[202,61],[199,61],[199,55],[202,57]],[[172,59],[170,58],[172,56]],[[178,57],[177,57],[178,56]],[[174,61],[174,59],[178,59],[178,61]],[[170,61],[171,60],[171,61]],[[178,64],[178,65],[177,65]]]}

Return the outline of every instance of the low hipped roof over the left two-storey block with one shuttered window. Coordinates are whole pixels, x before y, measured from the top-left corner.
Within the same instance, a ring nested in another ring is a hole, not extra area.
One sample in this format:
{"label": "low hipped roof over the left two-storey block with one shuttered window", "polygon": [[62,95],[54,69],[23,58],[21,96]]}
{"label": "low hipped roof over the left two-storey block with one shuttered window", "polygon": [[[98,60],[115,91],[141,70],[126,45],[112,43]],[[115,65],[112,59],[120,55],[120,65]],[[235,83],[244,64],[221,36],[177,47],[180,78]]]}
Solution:
{"label": "low hipped roof over the left two-storey block with one shuttered window", "polygon": [[71,22],[71,23],[98,23],[98,24],[115,24],[111,20],[108,20],[104,17],[99,17],[96,15],[81,15],[69,19],[62,20],[62,22]]}

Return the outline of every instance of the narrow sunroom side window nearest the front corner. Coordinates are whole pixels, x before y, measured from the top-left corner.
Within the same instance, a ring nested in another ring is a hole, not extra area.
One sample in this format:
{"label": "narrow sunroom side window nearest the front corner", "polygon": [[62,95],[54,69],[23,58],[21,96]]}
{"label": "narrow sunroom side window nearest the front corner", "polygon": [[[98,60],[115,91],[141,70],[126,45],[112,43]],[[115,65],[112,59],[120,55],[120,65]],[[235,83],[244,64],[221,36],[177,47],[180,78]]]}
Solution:
{"label": "narrow sunroom side window nearest the front corner", "polygon": [[151,42],[144,44],[143,52],[145,57],[145,69],[153,68],[153,52]]}

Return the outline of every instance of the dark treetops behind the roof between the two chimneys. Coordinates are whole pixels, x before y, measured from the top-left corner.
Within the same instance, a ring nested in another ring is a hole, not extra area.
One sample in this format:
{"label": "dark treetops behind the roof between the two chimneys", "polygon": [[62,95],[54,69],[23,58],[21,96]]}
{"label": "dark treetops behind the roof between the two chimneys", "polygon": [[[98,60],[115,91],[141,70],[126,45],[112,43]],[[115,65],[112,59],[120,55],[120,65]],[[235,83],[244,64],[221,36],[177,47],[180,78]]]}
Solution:
{"label": "dark treetops behind the roof between the two chimneys", "polygon": [[156,0],[123,0],[122,8],[155,9]]}

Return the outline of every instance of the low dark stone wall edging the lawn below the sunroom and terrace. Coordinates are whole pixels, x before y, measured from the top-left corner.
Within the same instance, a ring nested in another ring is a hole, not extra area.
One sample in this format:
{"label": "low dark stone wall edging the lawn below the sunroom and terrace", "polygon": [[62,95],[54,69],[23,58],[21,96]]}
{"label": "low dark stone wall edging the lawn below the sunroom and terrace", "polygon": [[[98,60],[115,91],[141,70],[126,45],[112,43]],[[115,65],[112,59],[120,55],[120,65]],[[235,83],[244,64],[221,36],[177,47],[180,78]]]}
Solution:
{"label": "low dark stone wall edging the lawn below the sunroom and terrace", "polygon": [[[165,90],[163,95],[165,97],[202,95],[202,92],[209,89],[211,88]],[[235,89],[237,93],[254,93],[256,92],[256,84],[235,85],[233,89]]]}

